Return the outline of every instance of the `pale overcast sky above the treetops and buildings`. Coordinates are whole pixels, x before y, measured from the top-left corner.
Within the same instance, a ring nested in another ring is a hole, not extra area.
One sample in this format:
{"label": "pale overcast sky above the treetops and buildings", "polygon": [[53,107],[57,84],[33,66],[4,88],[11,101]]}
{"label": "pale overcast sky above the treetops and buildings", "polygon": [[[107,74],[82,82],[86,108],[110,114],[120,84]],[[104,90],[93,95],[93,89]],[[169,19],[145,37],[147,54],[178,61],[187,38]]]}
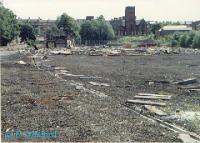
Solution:
{"label": "pale overcast sky above the treetops and buildings", "polygon": [[3,3],[21,18],[56,19],[66,12],[76,19],[101,14],[112,19],[123,16],[126,6],[136,6],[137,19],[200,20],[200,0],[3,0]]}

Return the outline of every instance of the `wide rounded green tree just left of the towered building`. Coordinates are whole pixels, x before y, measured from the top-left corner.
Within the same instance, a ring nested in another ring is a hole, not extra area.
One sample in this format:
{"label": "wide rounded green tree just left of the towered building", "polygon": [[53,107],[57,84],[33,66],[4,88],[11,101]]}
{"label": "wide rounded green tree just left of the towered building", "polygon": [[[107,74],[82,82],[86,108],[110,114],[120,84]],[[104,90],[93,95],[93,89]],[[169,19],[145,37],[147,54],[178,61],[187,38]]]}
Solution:
{"label": "wide rounded green tree just left of the towered building", "polygon": [[112,26],[103,16],[81,25],[81,40],[112,40],[115,37]]}

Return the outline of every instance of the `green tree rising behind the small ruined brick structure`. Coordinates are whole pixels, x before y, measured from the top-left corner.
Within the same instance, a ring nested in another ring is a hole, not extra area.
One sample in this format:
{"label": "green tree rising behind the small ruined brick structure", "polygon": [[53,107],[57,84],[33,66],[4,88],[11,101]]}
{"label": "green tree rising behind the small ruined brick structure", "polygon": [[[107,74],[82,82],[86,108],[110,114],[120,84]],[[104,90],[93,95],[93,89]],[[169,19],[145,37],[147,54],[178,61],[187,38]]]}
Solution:
{"label": "green tree rising behind the small ruined brick structure", "polygon": [[57,27],[60,30],[63,30],[66,35],[71,36],[77,39],[79,36],[80,27],[78,23],[66,13],[63,13],[60,17],[58,17],[56,21]]}

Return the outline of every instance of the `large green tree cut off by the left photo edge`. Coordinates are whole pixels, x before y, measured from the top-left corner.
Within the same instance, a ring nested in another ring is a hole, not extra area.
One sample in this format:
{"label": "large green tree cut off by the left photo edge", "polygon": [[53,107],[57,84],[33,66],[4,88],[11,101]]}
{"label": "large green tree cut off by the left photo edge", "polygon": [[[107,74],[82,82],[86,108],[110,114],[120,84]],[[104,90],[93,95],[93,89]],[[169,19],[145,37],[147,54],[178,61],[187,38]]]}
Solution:
{"label": "large green tree cut off by the left photo edge", "polygon": [[0,33],[3,46],[14,40],[19,34],[19,25],[14,13],[0,4]]}

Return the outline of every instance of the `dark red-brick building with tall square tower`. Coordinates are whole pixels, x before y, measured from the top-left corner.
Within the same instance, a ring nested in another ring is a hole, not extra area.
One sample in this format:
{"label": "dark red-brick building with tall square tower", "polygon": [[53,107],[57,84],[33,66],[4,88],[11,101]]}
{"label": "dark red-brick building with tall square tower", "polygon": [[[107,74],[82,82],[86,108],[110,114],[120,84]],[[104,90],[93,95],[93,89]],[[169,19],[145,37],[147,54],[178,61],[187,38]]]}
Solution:
{"label": "dark red-brick building with tall square tower", "polygon": [[128,6],[125,16],[110,21],[116,35],[144,35],[147,33],[147,24],[144,19],[136,20],[135,7]]}

